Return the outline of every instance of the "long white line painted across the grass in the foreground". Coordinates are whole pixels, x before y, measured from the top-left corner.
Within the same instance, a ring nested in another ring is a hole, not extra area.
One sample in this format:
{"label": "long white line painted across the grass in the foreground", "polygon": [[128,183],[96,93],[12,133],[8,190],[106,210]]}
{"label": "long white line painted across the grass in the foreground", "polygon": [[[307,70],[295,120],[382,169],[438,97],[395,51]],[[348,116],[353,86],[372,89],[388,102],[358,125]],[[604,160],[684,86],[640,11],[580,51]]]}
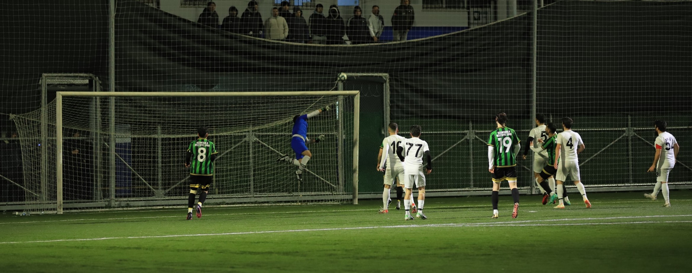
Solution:
{"label": "long white line painted across the grass in the foreground", "polygon": [[[641,217],[661,217],[662,215],[656,216],[641,216]],[[672,215],[671,215],[672,216]],[[617,218],[634,218],[634,217],[609,217],[604,219],[617,219]],[[579,219],[561,219],[561,220],[579,220]],[[591,219],[592,220],[592,219]],[[543,221],[543,220],[539,220]],[[524,221],[531,222],[531,221]],[[374,226],[374,227],[354,227],[354,228],[317,228],[317,229],[307,229],[307,230],[268,230],[261,232],[228,232],[228,233],[209,233],[209,234],[179,234],[179,235],[160,235],[160,236],[123,236],[123,237],[102,237],[102,238],[90,238],[90,239],[58,239],[58,240],[46,240],[46,241],[18,241],[18,242],[0,242],[0,244],[5,243],[51,243],[51,242],[66,242],[66,241],[99,241],[99,240],[111,240],[111,239],[150,239],[150,238],[171,238],[171,237],[187,237],[187,236],[223,236],[223,235],[240,235],[240,234],[266,234],[266,233],[284,233],[284,232],[315,232],[315,231],[331,231],[331,230],[367,230],[376,228],[456,228],[456,227],[493,227],[493,226],[543,226],[543,225],[615,225],[615,224],[637,224],[637,223],[692,223],[692,221],[636,221],[636,222],[615,222],[615,223],[557,223],[557,224],[509,224],[500,225],[501,223],[511,223],[511,222],[498,222],[498,223],[456,223],[456,224],[430,224],[430,225],[387,225],[387,226]]]}

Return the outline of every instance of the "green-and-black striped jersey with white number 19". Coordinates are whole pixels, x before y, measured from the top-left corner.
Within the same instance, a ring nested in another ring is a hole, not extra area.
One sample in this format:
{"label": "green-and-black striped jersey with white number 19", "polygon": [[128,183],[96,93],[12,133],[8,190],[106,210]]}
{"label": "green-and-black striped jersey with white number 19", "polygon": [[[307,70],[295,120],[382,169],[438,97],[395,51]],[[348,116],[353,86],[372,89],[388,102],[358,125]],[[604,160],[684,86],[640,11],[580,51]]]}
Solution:
{"label": "green-and-black striped jersey with white number 19", "polygon": [[500,127],[490,132],[488,145],[493,146],[495,156],[495,167],[506,168],[517,165],[516,154],[514,153],[514,145],[519,144],[519,136],[514,129]]}

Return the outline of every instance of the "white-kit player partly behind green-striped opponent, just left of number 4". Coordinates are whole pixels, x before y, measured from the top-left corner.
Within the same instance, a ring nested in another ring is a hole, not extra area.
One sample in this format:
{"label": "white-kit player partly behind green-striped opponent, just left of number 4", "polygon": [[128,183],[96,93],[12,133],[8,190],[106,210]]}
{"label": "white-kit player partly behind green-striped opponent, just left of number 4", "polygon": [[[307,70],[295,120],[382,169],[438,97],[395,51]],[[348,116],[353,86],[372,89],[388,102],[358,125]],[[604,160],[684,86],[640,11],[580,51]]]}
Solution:
{"label": "white-kit player partly behind green-striped opponent, just left of number 4", "polygon": [[[538,143],[539,139],[543,141],[548,139],[548,134],[545,132],[545,116],[543,114],[536,114],[536,128],[531,129],[531,132],[529,132],[529,138],[527,139],[531,145],[526,145],[526,148],[524,148],[524,155],[522,156],[522,159],[526,159],[527,155],[529,154],[529,149],[534,150],[541,148],[541,143]],[[547,203],[549,195],[545,192],[545,189],[541,187],[538,180],[540,180],[540,172],[543,170],[543,167],[545,167],[547,158],[547,150],[540,149],[540,152],[536,152],[534,150],[534,181],[536,181],[536,185],[538,185],[540,192],[543,193],[543,205]],[[551,191],[554,190],[555,179],[552,177],[549,178],[548,185]]]}

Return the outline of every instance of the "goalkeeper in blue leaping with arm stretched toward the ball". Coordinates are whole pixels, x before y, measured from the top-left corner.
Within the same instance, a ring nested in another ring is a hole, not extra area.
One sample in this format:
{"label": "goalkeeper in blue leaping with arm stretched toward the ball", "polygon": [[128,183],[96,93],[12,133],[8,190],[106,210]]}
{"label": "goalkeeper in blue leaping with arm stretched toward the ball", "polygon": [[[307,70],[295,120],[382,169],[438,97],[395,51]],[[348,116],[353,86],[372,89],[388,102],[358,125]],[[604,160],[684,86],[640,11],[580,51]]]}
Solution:
{"label": "goalkeeper in blue leaping with arm stretched toward the ball", "polygon": [[325,135],[320,134],[316,139],[307,138],[307,119],[315,117],[321,112],[325,112],[331,109],[331,105],[325,106],[325,108],[314,110],[308,114],[295,115],[293,117],[293,136],[291,136],[291,148],[295,152],[295,159],[292,159],[289,155],[281,156],[276,161],[288,161],[293,163],[293,165],[298,166],[298,170],[295,171],[295,178],[302,182],[302,171],[305,170],[307,162],[312,158],[312,153],[307,148],[307,144],[318,143],[324,139]]}

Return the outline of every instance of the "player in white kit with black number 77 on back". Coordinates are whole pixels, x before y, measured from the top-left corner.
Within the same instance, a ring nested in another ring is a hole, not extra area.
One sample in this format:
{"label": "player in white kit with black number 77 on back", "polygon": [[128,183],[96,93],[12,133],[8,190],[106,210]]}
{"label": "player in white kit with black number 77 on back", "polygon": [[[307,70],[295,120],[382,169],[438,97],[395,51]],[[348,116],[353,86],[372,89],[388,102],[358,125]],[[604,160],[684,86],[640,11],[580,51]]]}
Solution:
{"label": "player in white kit with black number 77 on back", "polygon": [[[406,209],[405,220],[413,220],[409,209],[411,203],[411,192],[415,186],[418,188],[418,213],[417,218],[428,219],[426,214],[423,214],[424,203],[426,200],[426,174],[432,172],[432,159],[430,158],[430,148],[428,143],[419,139],[421,136],[421,126],[411,126],[411,138],[406,139],[397,148],[397,156],[403,161],[404,187],[406,188],[406,196],[403,198],[403,206]],[[426,170],[423,170],[423,157],[425,156]]]}

